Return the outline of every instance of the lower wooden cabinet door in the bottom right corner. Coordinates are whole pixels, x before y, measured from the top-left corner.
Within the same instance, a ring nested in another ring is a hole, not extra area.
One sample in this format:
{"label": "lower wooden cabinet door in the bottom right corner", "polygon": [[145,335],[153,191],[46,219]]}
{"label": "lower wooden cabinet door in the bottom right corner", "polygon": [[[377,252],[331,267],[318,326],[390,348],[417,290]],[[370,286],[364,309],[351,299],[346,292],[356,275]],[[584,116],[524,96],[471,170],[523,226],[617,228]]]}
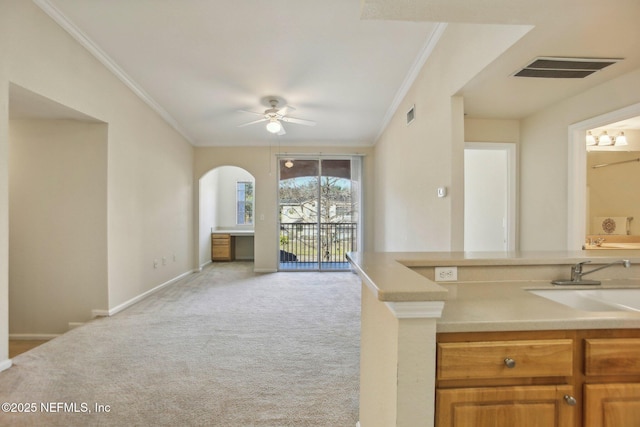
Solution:
{"label": "lower wooden cabinet door in the bottom right corner", "polygon": [[584,395],[585,426],[640,425],[640,384],[587,384]]}

